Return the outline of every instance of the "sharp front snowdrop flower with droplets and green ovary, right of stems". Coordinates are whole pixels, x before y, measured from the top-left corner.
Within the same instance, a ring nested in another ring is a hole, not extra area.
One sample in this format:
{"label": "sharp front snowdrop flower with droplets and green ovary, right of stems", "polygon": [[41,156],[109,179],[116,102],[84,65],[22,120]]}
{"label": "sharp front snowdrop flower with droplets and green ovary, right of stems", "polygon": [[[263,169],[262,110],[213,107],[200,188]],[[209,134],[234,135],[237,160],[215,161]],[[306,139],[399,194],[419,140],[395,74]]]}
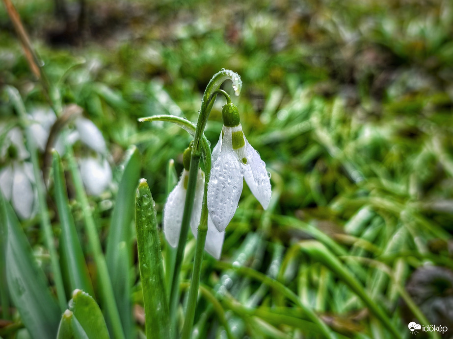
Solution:
{"label": "sharp front snowdrop flower with droplets and green ovary, right of stems", "polygon": [[270,201],[266,164],[248,143],[240,125],[239,111],[228,102],[222,109],[223,128],[213,149],[213,167],[208,186],[208,210],[219,232],[225,230],[238,207],[243,180],[264,209]]}

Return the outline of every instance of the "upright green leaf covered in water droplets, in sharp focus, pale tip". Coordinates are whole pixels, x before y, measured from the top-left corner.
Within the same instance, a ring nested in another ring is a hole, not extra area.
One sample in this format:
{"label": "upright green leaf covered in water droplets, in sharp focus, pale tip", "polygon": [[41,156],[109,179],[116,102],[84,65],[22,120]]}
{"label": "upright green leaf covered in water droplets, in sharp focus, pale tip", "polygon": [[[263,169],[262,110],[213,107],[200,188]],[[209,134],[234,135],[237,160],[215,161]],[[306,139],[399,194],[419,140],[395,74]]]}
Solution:
{"label": "upright green leaf covered in water droplets, in sharp focus, pale tip", "polygon": [[135,197],[138,263],[146,314],[147,338],[171,338],[154,200],[145,179]]}

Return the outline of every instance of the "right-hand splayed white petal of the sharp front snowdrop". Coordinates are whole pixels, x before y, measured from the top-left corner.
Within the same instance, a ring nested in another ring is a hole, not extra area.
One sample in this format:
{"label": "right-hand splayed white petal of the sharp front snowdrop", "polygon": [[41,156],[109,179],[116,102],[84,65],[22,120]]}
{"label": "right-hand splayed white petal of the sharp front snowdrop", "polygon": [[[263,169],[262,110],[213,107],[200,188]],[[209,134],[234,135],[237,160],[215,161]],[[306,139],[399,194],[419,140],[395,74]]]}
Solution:
{"label": "right-hand splayed white petal of the sharp front snowdrop", "polygon": [[270,180],[267,175],[266,164],[261,160],[258,152],[245,140],[247,145],[248,164],[244,165],[244,179],[250,191],[258,199],[264,209],[269,206],[270,201]]}

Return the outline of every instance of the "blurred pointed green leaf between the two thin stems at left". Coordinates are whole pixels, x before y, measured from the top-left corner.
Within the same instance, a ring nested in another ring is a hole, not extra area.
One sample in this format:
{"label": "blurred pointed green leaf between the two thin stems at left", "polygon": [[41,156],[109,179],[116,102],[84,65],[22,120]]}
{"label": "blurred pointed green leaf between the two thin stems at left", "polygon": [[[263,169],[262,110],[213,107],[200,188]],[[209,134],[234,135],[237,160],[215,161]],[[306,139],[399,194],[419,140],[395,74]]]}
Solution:
{"label": "blurred pointed green leaf between the two thin stems at left", "polygon": [[69,212],[69,201],[66,195],[66,181],[63,175],[61,159],[57,151],[53,151],[53,182],[54,195],[58,215],[61,222],[60,262],[70,291],[81,289],[93,294],[93,286],[83,257],[82,246],[77,235],[74,218]]}

